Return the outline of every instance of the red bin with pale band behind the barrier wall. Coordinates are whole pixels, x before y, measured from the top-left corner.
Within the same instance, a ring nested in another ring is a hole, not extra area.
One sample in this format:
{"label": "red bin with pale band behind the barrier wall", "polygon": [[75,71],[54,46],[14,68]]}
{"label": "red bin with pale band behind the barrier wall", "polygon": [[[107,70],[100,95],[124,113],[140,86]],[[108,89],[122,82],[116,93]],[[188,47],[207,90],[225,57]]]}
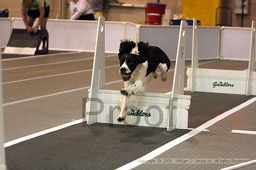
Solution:
{"label": "red bin with pale band behind the barrier wall", "polygon": [[147,3],[146,8],[146,24],[161,25],[162,14],[165,13],[166,4],[162,3]]}

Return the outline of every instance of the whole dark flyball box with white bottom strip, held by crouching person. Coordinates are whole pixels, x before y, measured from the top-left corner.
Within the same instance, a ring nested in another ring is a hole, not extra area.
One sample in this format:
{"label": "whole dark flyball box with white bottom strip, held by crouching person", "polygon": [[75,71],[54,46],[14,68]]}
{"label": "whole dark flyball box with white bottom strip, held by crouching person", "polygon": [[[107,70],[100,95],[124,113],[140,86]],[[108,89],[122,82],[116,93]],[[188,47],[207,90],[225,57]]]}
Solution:
{"label": "whole dark flyball box with white bottom strip, held by crouching person", "polygon": [[[40,44],[46,40],[46,48],[40,50]],[[38,30],[37,33],[27,33],[24,29],[13,29],[5,54],[47,54],[49,35],[46,30]]]}

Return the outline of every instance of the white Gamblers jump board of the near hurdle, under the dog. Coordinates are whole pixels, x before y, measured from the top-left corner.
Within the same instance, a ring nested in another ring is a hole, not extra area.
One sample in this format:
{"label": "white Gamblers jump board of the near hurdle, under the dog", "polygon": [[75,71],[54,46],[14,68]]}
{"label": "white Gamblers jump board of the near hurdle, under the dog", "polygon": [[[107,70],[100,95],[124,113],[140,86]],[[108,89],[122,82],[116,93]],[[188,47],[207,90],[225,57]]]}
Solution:
{"label": "white Gamblers jump board of the near hurdle, under the dog", "polygon": [[[88,90],[90,93],[90,89]],[[126,120],[117,121],[120,113],[117,101],[120,97],[118,90],[99,89],[98,92],[98,112],[97,122],[133,125],[133,126],[151,126],[168,127],[169,101],[171,94],[140,93],[132,95],[128,101],[128,112]],[[178,95],[178,100],[173,103],[174,113],[177,114],[176,128],[188,128],[188,109],[190,105],[190,95]],[[91,104],[87,102],[87,107]],[[101,108],[103,107],[103,108]],[[89,110],[87,109],[88,114]],[[89,120],[87,114],[86,120]]]}

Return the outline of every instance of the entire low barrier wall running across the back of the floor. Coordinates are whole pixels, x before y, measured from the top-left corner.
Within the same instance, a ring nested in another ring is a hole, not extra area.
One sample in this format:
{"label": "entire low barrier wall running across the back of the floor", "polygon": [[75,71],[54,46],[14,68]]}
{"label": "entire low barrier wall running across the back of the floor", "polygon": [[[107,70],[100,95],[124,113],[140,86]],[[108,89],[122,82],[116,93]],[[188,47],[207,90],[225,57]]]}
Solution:
{"label": "entire low barrier wall running across the back of the floor", "polygon": [[[21,18],[0,19],[0,47],[7,45],[11,28],[24,28]],[[97,21],[49,19],[49,48],[61,50],[94,51]],[[171,60],[175,60],[179,26],[137,25],[130,22],[106,21],[107,52],[117,53],[120,40],[145,41],[159,46]],[[249,60],[249,28],[198,26],[199,59]],[[187,28],[186,45],[191,47],[192,26]],[[136,51],[136,48],[134,52]],[[192,49],[186,49],[187,59],[191,59]]]}

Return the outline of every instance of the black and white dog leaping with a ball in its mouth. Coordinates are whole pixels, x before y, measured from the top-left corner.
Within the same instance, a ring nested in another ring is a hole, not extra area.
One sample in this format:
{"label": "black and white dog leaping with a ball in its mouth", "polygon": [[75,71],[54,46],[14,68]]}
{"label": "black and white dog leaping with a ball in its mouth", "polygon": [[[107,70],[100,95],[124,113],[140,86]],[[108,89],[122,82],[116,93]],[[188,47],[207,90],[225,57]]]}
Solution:
{"label": "black and white dog leaping with a ball in its mouth", "polygon": [[157,78],[155,70],[160,69],[161,79],[165,82],[171,66],[169,58],[159,47],[140,41],[137,44],[139,55],[136,55],[131,53],[135,45],[135,42],[124,39],[121,40],[119,48],[119,73],[124,81],[124,88],[121,89],[121,96],[118,100],[120,110],[118,121],[125,120],[129,97],[139,91],[144,91],[145,85],[152,77]]}

